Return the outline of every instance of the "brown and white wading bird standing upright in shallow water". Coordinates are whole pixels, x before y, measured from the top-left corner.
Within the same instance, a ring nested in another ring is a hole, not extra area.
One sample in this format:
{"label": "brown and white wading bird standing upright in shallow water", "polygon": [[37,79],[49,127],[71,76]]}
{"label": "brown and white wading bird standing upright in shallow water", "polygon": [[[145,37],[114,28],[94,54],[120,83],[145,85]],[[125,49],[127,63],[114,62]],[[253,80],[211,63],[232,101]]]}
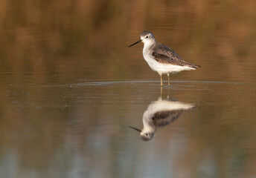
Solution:
{"label": "brown and white wading bird standing upright in shallow water", "polygon": [[[196,70],[199,65],[193,65],[190,62],[184,61],[178,53],[170,49],[164,44],[157,43],[155,36],[148,30],[141,33],[139,42],[144,43],[143,56],[150,68],[159,73],[168,76],[168,86],[170,87],[170,73],[177,73],[182,70]],[[134,44],[129,45],[129,47]],[[161,87],[163,86],[161,79]]]}

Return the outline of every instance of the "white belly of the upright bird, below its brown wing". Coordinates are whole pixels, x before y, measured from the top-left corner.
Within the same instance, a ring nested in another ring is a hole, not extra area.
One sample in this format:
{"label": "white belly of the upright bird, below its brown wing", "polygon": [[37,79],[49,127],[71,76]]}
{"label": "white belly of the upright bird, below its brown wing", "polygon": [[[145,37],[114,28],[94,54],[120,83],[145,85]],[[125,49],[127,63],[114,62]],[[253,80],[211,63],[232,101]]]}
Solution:
{"label": "white belly of the upright bird, below its brown wing", "polygon": [[167,73],[177,73],[182,70],[195,70],[194,68],[188,66],[162,64],[160,62],[157,62],[150,55],[147,55],[147,53],[143,53],[143,56],[150,68],[159,73],[159,75]]}

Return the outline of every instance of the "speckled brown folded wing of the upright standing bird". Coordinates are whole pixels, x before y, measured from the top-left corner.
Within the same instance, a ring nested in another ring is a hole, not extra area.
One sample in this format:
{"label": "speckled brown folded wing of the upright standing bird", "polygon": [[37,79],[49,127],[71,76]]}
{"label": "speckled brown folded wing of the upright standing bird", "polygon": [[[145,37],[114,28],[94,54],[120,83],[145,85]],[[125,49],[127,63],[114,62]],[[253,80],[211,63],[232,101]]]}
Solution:
{"label": "speckled brown folded wing of the upright standing bird", "polygon": [[157,62],[170,65],[180,65],[197,68],[199,65],[193,65],[190,62],[184,61],[178,53],[170,49],[170,47],[164,44],[157,43],[152,48],[152,56]]}

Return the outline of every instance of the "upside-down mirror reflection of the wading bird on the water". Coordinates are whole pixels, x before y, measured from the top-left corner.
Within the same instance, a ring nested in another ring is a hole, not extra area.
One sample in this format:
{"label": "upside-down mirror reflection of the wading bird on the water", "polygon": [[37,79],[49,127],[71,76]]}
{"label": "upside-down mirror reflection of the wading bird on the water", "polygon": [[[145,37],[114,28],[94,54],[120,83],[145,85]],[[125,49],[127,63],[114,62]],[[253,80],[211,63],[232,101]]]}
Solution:
{"label": "upside-down mirror reflection of the wading bird on the water", "polygon": [[171,101],[169,99],[161,99],[161,96],[155,102],[152,102],[147,110],[144,111],[142,122],[142,130],[129,126],[129,128],[140,132],[141,139],[149,141],[153,139],[156,133],[156,128],[164,127],[174,122],[182,113],[191,111],[196,108],[196,105],[191,103],[183,103]]}

